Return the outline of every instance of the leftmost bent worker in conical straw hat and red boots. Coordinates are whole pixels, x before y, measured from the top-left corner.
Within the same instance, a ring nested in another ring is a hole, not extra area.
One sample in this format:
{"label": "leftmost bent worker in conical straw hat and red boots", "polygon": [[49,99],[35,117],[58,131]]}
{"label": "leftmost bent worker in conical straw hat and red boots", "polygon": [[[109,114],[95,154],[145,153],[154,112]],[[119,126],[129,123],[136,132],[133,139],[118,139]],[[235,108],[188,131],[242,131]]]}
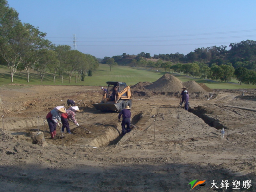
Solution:
{"label": "leftmost bent worker in conical straw hat and red boots", "polygon": [[66,108],[64,106],[57,106],[46,115],[52,139],[56,136],[56,127],[60,126],[60,116],[64,113],[66,113]]}

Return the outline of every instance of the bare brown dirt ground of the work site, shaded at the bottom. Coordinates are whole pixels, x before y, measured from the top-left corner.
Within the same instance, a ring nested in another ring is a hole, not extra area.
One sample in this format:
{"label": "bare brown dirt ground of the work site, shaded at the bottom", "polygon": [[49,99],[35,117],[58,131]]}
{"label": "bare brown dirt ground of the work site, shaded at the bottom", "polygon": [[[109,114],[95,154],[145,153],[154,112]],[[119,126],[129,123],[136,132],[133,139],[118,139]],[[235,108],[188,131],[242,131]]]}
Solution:
{"label": "bare brown dirt ground of the work site, shaded at the bottom", "polygon": [[[179,94],[134,92],[134,128],[122,137],[118,112],[92,106],[100,87],[1,86],[0,191],[186,192],[191,181],[205,180],[192,191],[255,192],[256,90],[207,94],[191,97],[186,111]],[[52,140],[45,116],[67,99],[92,133],[70,123],[72,134]],[[32,140],[38,132],[44,145]]]}

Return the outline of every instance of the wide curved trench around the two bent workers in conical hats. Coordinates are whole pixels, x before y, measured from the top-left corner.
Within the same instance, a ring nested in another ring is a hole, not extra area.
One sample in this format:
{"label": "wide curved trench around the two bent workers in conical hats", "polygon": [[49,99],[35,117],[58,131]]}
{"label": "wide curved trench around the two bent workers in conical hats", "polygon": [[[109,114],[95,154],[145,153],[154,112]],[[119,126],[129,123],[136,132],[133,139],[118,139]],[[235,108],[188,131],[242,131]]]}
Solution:
{"label": "wide curved trench around the two bent workers in conical hats", "polygon": [[[139,122],[141,117],[142,114],[136,114],[131,118],[132,128]],[[35,132],[40,131],[44,134],[44,138],[47,143],[62,145],[63,142],[65,146],[77,145],[80,147],[94,148],[117,144],[123,137],[121,135],[122,127],[119,122],[113,122],[111,124],[96,123],[88,126],[82,125],[82,127],[70,127],[72,134],[67,134],[65,129],[63,133],[64,138],[61,137],[60,130],[57,127],[57,136],[54,139],[50,139],[48,125],[30,127],[26,133],[21,133],[16,130],[17,132],[12,134],[20,138],[24,136],[24,140],[29,140],[30,138],[33,144],[37,144],[34,142],[32,136],[35,135]],[[86,129],[90,130],[91,133],[89,133]]]}

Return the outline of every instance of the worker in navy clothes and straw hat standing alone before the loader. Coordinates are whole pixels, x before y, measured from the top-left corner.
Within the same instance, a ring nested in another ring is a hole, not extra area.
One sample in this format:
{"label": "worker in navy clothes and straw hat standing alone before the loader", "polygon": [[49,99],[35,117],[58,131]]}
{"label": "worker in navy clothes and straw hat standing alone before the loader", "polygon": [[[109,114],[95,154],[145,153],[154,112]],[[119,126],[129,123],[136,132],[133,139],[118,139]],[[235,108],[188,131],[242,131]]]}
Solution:
{"label": "worker in navy clothes and straw hat standing alone before the loader", "polygon": [[122,135],[131,131],[131,111],[130,106],[126,106],[122,111],[120,111],[118,115],[118,121],[121,122],[120,118],[123,118],[121,126],[122,126]]}

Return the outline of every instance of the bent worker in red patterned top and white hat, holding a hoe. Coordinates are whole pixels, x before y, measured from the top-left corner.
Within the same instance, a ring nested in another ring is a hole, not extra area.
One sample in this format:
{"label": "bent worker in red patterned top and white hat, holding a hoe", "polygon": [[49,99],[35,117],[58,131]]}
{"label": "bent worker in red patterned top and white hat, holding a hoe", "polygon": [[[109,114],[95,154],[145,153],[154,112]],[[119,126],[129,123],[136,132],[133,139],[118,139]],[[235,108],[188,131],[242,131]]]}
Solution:
{"label": "bent worker in red patterned top and white hat, holding a hoe", "polygon": [[74,124],[76,124],[76,126],[79,126],[75,118],[76,112],[80,112],[78,106],[71,106],[68,110],[66,110],[66,113],[61,114],[60,120],[62,122],[62,128],[61,128],[62,133],[64,133],[64,130],[66,128],[67,133],[71,134],[68,119],[71,119],[74,122]]}

